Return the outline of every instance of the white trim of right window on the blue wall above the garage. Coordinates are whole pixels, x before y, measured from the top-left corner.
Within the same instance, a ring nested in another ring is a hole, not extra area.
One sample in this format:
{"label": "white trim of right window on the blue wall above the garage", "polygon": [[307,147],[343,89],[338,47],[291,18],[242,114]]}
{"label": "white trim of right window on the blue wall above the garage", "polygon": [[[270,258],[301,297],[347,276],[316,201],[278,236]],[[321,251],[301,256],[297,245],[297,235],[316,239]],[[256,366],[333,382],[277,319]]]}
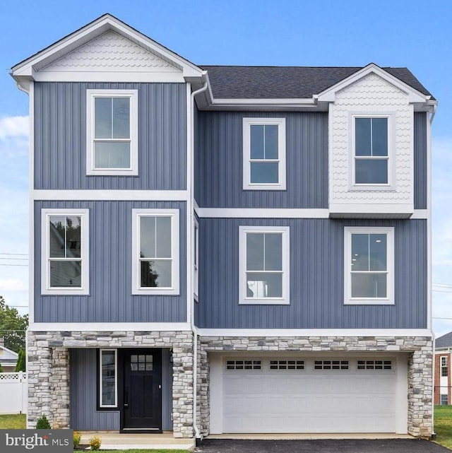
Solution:
{"label": "white trim of right window on the blue wall above the garage", "polygon": [[[386,298],[352,298],[352,234],[386,234],[387,278]],[[394,227],[345,227],[344,228],[344,304],[345,305],[394,305]]]}

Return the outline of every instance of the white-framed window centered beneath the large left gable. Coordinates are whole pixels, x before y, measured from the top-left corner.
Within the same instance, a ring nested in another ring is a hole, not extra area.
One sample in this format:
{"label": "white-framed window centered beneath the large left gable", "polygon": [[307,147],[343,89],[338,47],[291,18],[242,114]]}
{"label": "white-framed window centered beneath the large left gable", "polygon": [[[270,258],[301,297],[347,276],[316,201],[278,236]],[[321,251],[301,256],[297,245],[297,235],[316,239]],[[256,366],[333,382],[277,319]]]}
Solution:
{"label": "white-framed window centered beneath the large left gable", "polygon": [[138,175],[138,90],[86,97],[86,174]]}

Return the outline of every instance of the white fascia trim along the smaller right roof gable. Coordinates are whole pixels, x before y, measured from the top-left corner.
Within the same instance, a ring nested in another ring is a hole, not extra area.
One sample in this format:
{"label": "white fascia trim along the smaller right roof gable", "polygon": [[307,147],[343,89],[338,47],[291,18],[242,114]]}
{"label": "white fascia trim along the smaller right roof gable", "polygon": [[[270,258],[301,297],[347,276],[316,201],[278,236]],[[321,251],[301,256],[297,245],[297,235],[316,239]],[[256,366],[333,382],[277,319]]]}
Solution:
{"label": "white fascia trim along the smaller right roof gable", "polygon": [[319,100],[319,102],[334,102],[335,93],[337,93],[340,90],[343,90],[347,86],[352,85],[353,83],[369,75],[370,73],[375,73],[377,76],[383,78],[383,80],[386,80],[388,83],[391,83],[391,85],[396,86],[396,88],[398,88],[399,90],[403,91],[404,93],[407,93],[408,102],[410,103],[412,102],[424,103],[427,102],[430,98],[430,96],[422,94],[420,91],[416,90],[415,88],[412,88],[412,86],[409,86],[407,83],[401,81],[399,78],[386,72],[384,69],[381,69],[374,63],[368,64],[364,68],[359,69],[359,71],[353,73],[351,76],[348,76],[347,78],[336,83],[330,88],[323,90],[321,93],[319,93],[319,95],[316,96],[316,98]]}

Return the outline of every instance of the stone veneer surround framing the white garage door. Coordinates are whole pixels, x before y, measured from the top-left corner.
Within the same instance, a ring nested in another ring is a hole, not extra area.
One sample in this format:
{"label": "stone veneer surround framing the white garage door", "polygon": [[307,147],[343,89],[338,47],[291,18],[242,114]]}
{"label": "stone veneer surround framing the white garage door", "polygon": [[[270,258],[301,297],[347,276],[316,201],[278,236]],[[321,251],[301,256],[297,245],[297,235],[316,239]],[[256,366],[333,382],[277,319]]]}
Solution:
{"label": "stone veneer surround framing the white garage door", "polygon": [[432,339],[428,336],[307,336],[307,337],[230,337],[201,336],[198,349],[198,425],[209,433],[209,364],[213,351],[280,352],[400,352],[408,353],[408,433],[419,437],[432,435]]}

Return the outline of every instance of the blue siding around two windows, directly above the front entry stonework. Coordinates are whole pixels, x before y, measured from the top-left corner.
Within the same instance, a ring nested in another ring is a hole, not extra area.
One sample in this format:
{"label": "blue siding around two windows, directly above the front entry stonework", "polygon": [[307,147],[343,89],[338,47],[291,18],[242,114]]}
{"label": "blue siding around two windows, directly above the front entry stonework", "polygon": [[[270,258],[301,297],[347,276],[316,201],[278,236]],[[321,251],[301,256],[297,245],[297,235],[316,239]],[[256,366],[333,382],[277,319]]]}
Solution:
{"label": "blue siding around two windows, directly above the front entry stonework", "polygon": [[[89,209],[89,295],[41,295],[42,208]],[[131,294],[133,208],[179,209],[179,295]],[[186,322],[182,201],[35,201],[35,263],[35,322]]]}

